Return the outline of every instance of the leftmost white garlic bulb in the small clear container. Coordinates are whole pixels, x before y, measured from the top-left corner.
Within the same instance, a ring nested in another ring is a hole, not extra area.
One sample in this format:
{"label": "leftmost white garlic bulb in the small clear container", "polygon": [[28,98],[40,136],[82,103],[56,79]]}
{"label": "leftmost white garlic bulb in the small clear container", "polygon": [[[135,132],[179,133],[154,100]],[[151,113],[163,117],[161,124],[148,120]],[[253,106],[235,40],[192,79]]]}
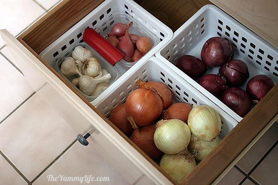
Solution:
{"label": "leftmost white garlic bulb in the small clear container", "polygon": [[67,57],[61,64],[60,71],[65,75],[67,78],[71,77],[74,74],[78,74],[79,76],[82,76],[80,71],[78,70],[75,60],[72,57]]}

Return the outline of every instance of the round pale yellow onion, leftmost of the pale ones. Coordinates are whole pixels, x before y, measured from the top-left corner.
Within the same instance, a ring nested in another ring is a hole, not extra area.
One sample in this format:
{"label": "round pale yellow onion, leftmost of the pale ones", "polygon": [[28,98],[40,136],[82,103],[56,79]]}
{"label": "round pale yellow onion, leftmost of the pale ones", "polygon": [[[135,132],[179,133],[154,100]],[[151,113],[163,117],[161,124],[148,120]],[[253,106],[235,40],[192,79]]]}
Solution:
{"label": "round pale yellow onion, leftmost of the pale ones", "polygon": [[167,154],[185,151],[190,141],[190,130],[179,119],[160,120],[153,136],[155,146]]}

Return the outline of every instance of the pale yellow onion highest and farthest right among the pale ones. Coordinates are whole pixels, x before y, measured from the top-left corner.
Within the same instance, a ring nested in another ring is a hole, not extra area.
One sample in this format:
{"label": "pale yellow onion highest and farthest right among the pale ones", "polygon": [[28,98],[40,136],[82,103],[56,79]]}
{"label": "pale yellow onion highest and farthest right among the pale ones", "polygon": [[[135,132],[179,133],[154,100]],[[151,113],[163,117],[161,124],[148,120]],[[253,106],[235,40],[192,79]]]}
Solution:
{"label": "pale yellow onion highest and farthest right among the pale ones", "polygon": [[193,135],[211,141],[221,131],[221,118],[216,110],[207,105],[194,105],[187,120]]}

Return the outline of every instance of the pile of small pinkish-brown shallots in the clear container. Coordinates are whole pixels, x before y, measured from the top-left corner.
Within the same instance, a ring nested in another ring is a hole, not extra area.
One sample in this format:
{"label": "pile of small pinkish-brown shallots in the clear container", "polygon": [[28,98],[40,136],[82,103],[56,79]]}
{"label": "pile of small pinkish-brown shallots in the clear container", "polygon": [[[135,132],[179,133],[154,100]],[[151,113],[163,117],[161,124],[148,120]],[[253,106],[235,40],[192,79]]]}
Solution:
{"label": "pile of small pinkish-brown shallots in the clear container", "polygon": [[152,42],[147,36],[129,33],[132,24],[132,21],[129,25],[116,23],[106,37],[108,42],[124,54],[123,60],[126,62],[138,61],[152,48]]}

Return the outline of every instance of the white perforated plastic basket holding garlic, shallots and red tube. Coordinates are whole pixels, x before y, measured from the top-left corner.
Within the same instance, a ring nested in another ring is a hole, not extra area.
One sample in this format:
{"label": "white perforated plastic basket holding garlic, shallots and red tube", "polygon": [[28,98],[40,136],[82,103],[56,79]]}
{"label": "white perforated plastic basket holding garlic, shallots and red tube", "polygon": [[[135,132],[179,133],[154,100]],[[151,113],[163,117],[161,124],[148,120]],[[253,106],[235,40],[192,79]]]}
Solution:
{"label": "white perforated plastic basket holding garlic, shallots and red tube", "polygon": [[[125,16],[124,19],[123,15]],[[60,57],[67,55],[72,46],[83,42],[82,34],[85,28],[91,27],[104,36],[109,33],[111,27],[119,20],[133,21],[134,24],[130,27],[130,30],[138,32],[133,32],[134,34],[144,34],[151,37],[150,39],[154,46],[138,62],[147,60],[153,56],[173,36],[173,32],[170,28],[134,1],[105,0],[90,14],[80,20],[65,34],[60,36],[55,42],[50,44],[39,55],[54,67],[55,62]],[[118,68],[121,71],[121,74],[128,69],[120,67],[118,63],[114,67]],[[111,88],[112,87],[109,86],[105,91],[111,91]],[[100,96],[95,101],[98,102],[99,99]],[[95,104],[94,101],[92,101],[92,104]]]}

